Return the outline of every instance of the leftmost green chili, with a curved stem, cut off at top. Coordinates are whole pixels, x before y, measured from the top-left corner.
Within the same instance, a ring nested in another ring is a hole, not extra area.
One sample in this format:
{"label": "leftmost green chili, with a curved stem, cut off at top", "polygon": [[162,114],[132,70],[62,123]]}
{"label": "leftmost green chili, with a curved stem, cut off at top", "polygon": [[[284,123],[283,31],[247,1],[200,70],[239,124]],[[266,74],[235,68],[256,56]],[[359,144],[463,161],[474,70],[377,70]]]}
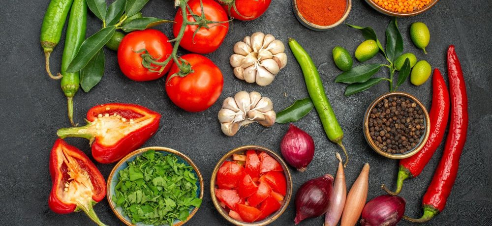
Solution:
{"label": "leftmost green chili, with a curved stem, cut off at top", "polygon": [[62,29],[65,25],[68,10],[73,0],[51,0],[48,9],[44,14],[43,25],[41,26],[41,47],[46,57],[46,72],[52,79],[61,79],[62,76],[54,76],[50,71],[50,54],[53,48],[58,45],[62,37]]}

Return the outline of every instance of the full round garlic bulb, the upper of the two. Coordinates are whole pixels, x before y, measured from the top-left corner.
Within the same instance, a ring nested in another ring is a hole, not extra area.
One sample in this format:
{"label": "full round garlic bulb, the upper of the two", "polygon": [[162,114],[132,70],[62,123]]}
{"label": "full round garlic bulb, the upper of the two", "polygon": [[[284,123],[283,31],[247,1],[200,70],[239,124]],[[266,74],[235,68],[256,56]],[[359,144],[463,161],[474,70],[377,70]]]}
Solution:
{"label": "full round garlic bulb, the upper of the two", "polygon": [[248,83],[269,85],[287,64],[285,46],[271,34],[256,32],[234,45],[229,61],[234,75]]}

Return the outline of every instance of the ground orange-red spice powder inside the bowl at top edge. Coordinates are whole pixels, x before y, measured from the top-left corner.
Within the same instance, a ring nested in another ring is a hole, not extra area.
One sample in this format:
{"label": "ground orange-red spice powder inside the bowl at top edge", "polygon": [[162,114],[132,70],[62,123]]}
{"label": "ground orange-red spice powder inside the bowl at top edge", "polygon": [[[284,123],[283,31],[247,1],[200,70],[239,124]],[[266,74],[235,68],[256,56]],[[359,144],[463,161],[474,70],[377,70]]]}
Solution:
{"label": "ground orange-red spice powder inside the bowl at top edge", "polygon": [[297,0],[297,8],[307,21],[328,26],[343,17],[347,0]]}

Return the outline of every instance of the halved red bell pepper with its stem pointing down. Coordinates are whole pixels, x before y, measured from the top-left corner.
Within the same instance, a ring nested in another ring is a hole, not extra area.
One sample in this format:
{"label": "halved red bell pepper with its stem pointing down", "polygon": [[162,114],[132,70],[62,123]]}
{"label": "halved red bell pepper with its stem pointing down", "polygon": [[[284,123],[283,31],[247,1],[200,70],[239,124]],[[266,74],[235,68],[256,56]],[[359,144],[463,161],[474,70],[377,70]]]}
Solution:
{"label": "halved red bell pepper with its stem pointing down", "polygon": [[50,174],[53,187],[48,205],[53,212],[83,210],[97,225],[104,225],[92,205],[106,196],[106,181],[87,155],[58,139],[51,150]]}

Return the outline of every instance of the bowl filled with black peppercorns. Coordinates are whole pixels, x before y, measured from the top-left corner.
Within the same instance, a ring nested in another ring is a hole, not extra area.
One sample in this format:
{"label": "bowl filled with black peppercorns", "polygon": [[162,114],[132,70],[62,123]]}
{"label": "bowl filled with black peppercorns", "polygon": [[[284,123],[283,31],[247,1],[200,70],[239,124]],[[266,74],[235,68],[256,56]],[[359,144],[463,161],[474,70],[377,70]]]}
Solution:
{"label": "bowl filled with black peppercorns", "polygon": [[390,92],[374,100],[364,115],[369,146],[391,159],[417,154],[427,142],[430,118],[425,106],[405,92]]}

